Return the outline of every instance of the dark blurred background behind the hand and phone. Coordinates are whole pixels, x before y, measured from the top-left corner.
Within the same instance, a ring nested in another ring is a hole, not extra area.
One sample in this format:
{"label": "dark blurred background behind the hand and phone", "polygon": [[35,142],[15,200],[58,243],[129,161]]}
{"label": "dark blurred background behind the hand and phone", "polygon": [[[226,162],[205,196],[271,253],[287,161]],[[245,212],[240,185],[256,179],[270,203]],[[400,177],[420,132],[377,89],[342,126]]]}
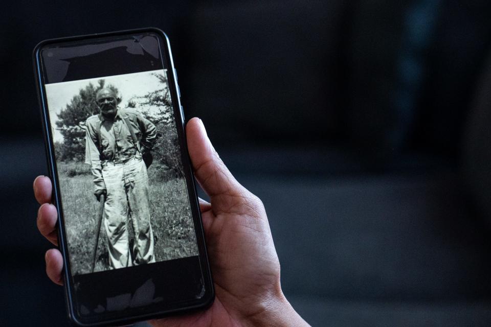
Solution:
{"label": "dark blurred background behind the hand and phone", "polygon": [[153,26],[198,115],[264,202],[312,325],[491,320],[491,3],[16,1],[2,46],[3,325],[66,325],[32,181],[47,174],[31,53]]}

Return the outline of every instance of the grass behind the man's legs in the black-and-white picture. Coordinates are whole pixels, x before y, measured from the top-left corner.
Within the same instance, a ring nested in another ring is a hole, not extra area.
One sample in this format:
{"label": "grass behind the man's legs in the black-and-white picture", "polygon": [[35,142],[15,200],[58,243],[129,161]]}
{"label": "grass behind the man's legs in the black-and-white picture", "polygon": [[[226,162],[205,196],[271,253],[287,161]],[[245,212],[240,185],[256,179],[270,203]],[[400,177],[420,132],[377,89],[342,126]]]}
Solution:
{"label": "grass behind the man's legs in the black-and-white picture", "polygon": [[[91,169],[78,162],[60,162],[58,174],[72,273],[89,273],[99,211]],[[157,163],[148,169],[150,219],[157,262],[198,253],[185,180],[168,175],[165,166]],[[133,238],[131,223],[128,223],[128,230]],[[102,225],[95,271],[107,269],[107,236]]]}

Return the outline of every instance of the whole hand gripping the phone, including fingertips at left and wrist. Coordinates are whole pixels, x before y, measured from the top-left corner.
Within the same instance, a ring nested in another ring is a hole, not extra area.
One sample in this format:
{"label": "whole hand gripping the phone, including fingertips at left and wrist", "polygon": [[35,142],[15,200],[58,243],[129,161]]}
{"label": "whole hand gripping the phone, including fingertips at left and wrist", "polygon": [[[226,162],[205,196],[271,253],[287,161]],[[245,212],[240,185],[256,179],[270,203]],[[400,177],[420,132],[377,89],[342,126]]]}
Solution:
{"label": "whole hand gripping the phone, including fingertips at left and wrist", "polygon": [[[155,326],[308,326],[283,295],[280,264],[262,202],[243,188],[218,157],[203,123],[193,118],[186,126],[189,155],[198,183],[210,196],[200,199],[216,298],[211,308],[187,316],[152,320]],[[41,204],[38,228],[56,244],[56,208],[48,204],[48,177],[34,181]],[[46,271],[62,284],[58,250],[46,253]]]}

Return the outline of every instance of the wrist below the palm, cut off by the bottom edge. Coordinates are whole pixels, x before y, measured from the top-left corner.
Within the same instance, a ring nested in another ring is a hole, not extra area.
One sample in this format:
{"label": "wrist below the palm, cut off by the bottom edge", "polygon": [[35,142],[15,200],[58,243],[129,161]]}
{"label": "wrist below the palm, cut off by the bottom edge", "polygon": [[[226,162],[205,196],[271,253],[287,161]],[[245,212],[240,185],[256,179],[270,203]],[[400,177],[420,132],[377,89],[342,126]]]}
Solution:
{"label": "wrist below the palm, cut off by the bottom edge", "polygon": [[286,299],[283,292],[280,292],[274,298],[266,301],[264,310],[260,313],[249,317],[249,325],[251,326],[310,326],[303,318],[295,311],[290,302]]}

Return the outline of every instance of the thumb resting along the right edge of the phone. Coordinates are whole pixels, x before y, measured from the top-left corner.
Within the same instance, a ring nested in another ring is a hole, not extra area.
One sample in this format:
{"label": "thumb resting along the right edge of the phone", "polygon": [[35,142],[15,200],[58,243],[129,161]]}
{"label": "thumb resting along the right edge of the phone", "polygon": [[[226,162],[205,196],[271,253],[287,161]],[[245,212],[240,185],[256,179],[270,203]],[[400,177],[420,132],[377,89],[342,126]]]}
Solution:
{"label": "thumb resting along the right edge of the phone", "polygon": [[194,174],[203,191],[210,198],[217,195],[240,195],[242,186],[221,161],[200,119],[193,118],[188,122],[186,136]]}

